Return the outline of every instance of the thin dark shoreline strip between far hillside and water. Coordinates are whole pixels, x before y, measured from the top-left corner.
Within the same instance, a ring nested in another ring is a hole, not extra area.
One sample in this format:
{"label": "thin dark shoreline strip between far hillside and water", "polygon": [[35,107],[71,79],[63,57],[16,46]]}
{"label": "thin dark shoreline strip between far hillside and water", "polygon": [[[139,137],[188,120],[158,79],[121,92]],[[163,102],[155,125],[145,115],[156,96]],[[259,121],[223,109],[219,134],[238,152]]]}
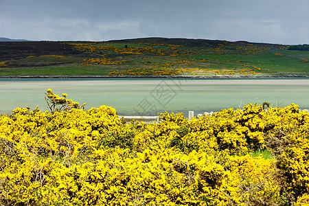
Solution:
{"label": "thin dark shoreline strip between far hillside and water", "polygon": [[309,78],[309,76],[0,76],[1,78]]}

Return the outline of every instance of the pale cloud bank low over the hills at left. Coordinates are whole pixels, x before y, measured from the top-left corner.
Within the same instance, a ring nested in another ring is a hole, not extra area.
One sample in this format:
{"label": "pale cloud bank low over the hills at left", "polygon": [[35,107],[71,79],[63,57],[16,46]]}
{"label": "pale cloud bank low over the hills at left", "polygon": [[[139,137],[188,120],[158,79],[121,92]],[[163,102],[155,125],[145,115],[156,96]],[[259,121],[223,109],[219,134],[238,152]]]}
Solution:
{"label": "pale cloud bank low over the hills at left", "polygon": [[[14,27],[11,26],[12,24]],[[23,37],[29,40],[50,41],[107,41],[119,37],[125,38],[125,36],[133,38],[139,33],[139,21],[130,20],[89,21],[88,19],[51,18],[40,21],[0,23],[0,27],[5,31],[1,35],[10,38]]]}

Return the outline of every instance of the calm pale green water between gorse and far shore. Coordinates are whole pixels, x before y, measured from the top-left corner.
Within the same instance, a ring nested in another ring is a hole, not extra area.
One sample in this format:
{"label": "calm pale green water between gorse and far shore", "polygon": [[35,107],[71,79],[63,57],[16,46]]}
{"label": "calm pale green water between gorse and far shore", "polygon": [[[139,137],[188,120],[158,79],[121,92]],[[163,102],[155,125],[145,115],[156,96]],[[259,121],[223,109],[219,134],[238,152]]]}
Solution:
{"label": "calm pale green water between gorse and far shore", "polygon": [[113,106],[119,115],[155,115],[163,111],[204,113],[244,104],[298,104],[309,108],[309,79],[0,79],[0,113],[39,105],[45,92],[67,93],[86,108]]}

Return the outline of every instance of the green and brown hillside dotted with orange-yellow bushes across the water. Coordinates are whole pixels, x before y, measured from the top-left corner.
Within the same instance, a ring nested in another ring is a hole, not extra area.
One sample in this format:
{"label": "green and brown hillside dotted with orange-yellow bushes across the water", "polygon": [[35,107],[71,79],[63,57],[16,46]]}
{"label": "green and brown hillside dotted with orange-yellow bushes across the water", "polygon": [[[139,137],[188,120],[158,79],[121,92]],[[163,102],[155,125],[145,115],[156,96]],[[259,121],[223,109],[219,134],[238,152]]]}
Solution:
{"label": "green and brown hillside dotted with orange-yellow bushes across the water", "polygon": [[288,47],[181,38],[1,42],[0,76],[309,76],[309,52]]}

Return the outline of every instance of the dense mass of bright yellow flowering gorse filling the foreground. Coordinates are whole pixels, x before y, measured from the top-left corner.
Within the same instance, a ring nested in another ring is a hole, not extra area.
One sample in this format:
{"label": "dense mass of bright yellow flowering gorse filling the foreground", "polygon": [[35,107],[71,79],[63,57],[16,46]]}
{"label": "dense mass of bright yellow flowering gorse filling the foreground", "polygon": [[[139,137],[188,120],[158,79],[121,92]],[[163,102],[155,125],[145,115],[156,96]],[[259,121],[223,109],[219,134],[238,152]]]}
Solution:
{"label": "dense mass of bright yellow flowering gorse filling the foreground", "polygon": [[[66,97],[48,89],[52,112],[1,115],[2,205],[308,203],[308,113],[295,104],[126,124]],[[264,148],[275,158],[250,155]]]}

